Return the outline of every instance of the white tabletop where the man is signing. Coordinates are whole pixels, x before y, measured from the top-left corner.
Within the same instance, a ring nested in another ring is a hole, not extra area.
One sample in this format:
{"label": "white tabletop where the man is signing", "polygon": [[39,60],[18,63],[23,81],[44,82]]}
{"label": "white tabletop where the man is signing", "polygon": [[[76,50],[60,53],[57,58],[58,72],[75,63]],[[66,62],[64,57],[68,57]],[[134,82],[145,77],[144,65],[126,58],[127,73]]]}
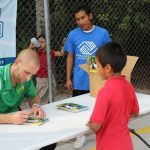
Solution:
{"label": "white tabletop where the man is signing", "polygon": [[[150,95],[137,94],[140,114],[150,112]],[[56,109],[56,105],[64,102],[74,102],[87,105],[88,110],[72,113]],[[92,113],[95,98],[89,94],[68,98],[44,105],[50,121],[41,125],[0,125],[0,149],[2,150],[35,150],[45,145],[64,141],[88,132],[85,126]]]}

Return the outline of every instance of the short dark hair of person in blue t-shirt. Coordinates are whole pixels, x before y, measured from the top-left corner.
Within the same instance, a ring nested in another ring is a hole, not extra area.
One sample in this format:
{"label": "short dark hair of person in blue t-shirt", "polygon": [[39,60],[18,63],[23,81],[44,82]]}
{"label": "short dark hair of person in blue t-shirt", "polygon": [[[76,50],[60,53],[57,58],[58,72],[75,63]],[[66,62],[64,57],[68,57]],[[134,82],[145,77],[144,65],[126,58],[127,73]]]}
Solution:
{"label": "short dark hair of person in blue t-shirt", "polygon": [[90,15],[90,13],[92,13],[90,7],[88,5],[86,5],[86,4],[79,4],[78,6],[76,6],[74,11],[73,11],[73,15],[75,15],[79,11],[85,11],[85,13],[87,15]]}

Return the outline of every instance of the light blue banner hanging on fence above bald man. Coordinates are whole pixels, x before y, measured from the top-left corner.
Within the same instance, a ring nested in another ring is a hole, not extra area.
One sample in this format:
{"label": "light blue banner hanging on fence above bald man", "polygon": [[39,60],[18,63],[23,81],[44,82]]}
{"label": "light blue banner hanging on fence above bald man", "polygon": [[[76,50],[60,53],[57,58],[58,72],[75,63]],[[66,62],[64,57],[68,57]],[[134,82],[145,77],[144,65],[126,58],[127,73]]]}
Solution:
{"label": "light blue banner hanging on fence above bald man", "polygon": [[0,0],[0,65],[16,58],[17,0]]}

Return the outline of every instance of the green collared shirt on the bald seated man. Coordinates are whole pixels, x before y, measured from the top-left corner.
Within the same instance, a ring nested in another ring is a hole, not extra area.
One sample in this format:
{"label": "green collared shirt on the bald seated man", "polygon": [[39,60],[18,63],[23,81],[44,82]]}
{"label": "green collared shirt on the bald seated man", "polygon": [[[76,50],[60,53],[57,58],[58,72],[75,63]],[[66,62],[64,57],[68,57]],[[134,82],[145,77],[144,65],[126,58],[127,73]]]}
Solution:
{"label": "green collared shirt on the bald seated man", "polygon": [[12,87],[10,66],[11,64],[0,67],[0,113],[15,112],[24,97],[33,98],[36,96],[32,80]]}

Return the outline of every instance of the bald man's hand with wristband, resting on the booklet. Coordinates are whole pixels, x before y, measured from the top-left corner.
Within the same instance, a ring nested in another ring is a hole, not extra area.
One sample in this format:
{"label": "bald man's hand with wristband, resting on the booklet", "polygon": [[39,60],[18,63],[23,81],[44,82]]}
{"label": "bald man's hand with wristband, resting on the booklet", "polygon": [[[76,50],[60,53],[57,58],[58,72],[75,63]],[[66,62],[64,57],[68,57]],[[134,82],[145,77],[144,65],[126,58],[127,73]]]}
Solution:
{"label": "bald man's hand with wristband, resting on the booklet", "polygon": [[37,104],[36,105],[33,104],[30,115],[39,116],[41,118],[45,117],[45,113],[44,113],[43,109]]}

